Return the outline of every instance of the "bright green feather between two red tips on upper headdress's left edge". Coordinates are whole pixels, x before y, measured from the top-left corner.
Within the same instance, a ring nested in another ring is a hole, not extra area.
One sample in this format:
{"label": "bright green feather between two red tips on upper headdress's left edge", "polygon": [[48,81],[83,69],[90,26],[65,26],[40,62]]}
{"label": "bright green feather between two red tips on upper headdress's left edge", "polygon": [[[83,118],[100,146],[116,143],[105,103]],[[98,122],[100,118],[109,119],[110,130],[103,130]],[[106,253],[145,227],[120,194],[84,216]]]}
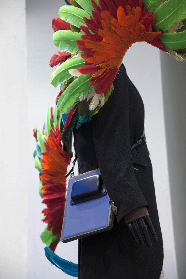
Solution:
{"label": "bright green feather between two red tips on upper headdress's left edge", "polygon": [[70,30],[59,30],[53,35],[53,42],[56,47],[64,50],[68,47],[68,52],[76,53],[79,48],[77,45],[77,40],[81,40],[82,33],[72,32]]}

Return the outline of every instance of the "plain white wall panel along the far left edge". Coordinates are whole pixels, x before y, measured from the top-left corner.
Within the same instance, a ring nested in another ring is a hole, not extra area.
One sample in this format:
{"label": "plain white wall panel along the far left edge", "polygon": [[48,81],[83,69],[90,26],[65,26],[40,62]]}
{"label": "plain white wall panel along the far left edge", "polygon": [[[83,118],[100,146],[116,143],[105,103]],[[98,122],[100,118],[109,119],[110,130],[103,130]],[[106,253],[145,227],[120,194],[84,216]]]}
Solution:
{"label": "plain white wall panel along the far left edge", "polygon": [[27,266],[27,94],[24,0],[0,1],[0,278]]}

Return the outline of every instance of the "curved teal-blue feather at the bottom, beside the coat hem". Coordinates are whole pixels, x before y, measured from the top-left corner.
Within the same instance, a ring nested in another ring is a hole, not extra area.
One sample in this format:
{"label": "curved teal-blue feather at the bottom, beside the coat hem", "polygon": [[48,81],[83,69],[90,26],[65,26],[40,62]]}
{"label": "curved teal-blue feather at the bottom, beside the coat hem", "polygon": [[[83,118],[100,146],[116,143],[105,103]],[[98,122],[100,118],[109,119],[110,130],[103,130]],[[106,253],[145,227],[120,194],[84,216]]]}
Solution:
{"label": "curved teal-blue feather at the bottom, beside the coat hem", "polygon": [[45,247],[45,255],[47,259],[54,264],[56,267],[60,268],[66,274],[78,277],[78,264],[72,263],[65,259],[60,258],[56,255],[49,247]]}

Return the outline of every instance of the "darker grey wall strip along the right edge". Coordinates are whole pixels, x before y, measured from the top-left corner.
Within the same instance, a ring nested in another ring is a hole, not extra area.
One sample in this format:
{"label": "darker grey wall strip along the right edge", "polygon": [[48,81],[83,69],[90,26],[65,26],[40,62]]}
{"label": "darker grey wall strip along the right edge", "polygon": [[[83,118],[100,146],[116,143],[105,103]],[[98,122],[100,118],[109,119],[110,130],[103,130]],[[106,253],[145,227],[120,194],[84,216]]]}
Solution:
{"label": "darker grey wall strip along the right edge", "polygon": [[170,195],[179,279],[186,278],[186,64],[161,54]]}

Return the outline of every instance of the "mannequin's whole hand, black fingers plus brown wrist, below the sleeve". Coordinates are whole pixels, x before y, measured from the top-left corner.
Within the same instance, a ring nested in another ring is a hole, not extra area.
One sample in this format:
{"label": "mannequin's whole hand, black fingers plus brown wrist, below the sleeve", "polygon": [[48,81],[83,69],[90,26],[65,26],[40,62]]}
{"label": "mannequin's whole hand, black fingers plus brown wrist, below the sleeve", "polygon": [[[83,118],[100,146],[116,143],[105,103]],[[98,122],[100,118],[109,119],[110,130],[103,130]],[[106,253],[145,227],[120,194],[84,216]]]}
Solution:
{"label": "mannequin's whole hand, black fingers plus brown wrist, below the sleeve", "polygon": [[154,241],[158,241],[157,234],[145,206],[132,210],[124,219],[136,243],[140,243],[142,246],[146,244],[149,248],[152,247],[149,232],[152,234]]}

